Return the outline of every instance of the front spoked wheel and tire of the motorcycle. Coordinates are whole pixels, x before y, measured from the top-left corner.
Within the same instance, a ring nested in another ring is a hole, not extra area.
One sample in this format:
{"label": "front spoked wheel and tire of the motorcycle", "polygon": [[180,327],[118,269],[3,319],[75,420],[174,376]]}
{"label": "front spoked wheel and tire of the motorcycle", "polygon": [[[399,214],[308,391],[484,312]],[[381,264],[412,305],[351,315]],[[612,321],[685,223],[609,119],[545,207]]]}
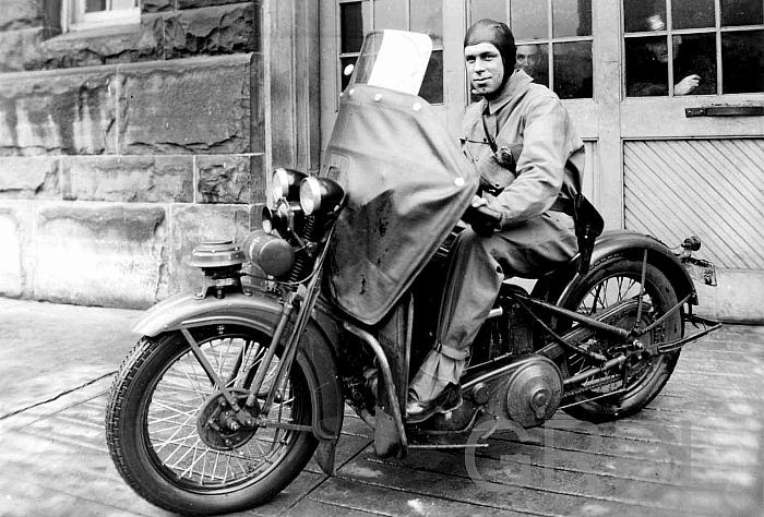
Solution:
{"label": "front spoked wheel and tire of the motorcycle", "polygon": [[[270,336],[232,325],[192,335],[228,386],[251,384],[256,368],[241,368],[241,359],[256,345],[248,362],[259,364],[271,342]],[[273,384],[278,357],[277,351],[260,393]],[[262,504],[300,473],[317,447],[305,431],[260,428],[223,436],[200,424],[219,407],[212,384],[178,332],[142,338],[114,382],[106,410],[111,459],[124,481],[156,506],[210,515]],[[310,424],[310,393],[297,360],[283,394],[267,417]]]}

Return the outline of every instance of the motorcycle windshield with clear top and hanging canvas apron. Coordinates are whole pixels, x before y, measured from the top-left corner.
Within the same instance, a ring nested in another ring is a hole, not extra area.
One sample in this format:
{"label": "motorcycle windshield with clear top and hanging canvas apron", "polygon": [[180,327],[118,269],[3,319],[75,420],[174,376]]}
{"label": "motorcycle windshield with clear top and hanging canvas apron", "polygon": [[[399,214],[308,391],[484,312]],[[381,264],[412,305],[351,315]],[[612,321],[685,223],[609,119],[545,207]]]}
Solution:
{"label": "motorcycle windshield with clear top and hanging canvas apron", "polygon": [[330,292],[367,324],[411,285],[478,185],[471,161],[416,95],[430,49],[420,34],[367,37],[320,172],[347,196],[329,257]]}

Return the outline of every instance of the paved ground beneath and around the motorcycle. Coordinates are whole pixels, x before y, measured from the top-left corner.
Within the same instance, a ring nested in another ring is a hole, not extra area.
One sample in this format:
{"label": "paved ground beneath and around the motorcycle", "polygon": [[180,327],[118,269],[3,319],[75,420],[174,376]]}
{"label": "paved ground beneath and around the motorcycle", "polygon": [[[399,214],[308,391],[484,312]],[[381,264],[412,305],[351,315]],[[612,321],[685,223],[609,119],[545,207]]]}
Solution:
{"label": "paved ground beneath and around the motorcycle", "polygon": [[[0,515],[168,515],[121,481],[104,440],[136,315],[0,300]],[[762,515],[762,380],[764,327],[726,326],[684,350],[640,414],[593,425],[561,413],[526,443],[494,435],[471,459],[380,460],[348,413],[336,477],[311,461],[242,515]]]}

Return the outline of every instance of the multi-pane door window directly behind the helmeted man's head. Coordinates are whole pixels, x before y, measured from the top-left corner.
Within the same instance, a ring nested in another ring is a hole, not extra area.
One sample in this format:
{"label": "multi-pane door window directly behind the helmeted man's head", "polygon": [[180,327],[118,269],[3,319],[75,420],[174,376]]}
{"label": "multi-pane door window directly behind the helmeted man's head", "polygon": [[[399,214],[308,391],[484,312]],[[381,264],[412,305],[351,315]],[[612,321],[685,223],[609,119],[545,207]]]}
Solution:
{"label": "multi-pane door window directly behind the helmeted man's head", "polygon": [[469,0],[470,23],[512,29],[516,68],[560,98],[592,98],[592,0]]}

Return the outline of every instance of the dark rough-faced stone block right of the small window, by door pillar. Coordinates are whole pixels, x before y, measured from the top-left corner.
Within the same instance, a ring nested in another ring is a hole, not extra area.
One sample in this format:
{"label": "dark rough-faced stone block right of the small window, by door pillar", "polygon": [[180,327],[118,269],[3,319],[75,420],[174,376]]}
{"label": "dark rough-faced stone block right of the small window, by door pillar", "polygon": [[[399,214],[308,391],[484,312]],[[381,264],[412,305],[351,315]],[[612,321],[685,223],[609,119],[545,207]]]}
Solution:
{"label": "dark rough-faced stone block right of the small window, by door pillar", "polygon": [[179,11],[165,17],[167,59],[259,49],[260,10],[253,3]]}

